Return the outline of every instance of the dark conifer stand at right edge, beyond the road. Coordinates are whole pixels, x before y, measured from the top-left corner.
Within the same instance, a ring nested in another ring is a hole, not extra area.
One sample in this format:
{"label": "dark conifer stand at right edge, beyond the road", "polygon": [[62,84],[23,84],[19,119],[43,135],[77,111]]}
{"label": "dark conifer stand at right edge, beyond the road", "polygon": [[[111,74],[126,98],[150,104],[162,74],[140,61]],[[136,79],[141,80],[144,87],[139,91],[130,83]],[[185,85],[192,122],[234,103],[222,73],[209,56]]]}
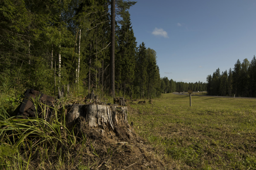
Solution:
{"label": "dark conifer stand at right edge, beyond the road", "polygon": [[247,58],[243,63],[238,59],[235,67],[227,71],[218,68],[213,74],[207,76],[208,95],[256,97],[256,58],[252,61]]}

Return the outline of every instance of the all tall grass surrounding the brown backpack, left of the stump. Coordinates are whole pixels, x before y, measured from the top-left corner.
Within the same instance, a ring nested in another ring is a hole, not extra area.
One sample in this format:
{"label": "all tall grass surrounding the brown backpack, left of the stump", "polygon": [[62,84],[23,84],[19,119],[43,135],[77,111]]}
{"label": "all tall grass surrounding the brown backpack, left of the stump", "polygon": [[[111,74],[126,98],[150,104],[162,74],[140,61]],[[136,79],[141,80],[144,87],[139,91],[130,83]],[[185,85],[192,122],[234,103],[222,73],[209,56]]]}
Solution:
{"label": "all tall grass surrounding the brown backpack, left of the stump", "polygon": [[[72,169],[80,167],[83,154],[88,151],[86,137],[76,137],[73,129],[65,124],[65,106],[68,103],[83,103],[83,96],[71,89],[70,97],[56,100],[53,107],[32,100],[35,118],[23,119],[13,114],[22,98],[17,98],[11,86],[1,81],[0,85],[0,169]],[[74,96],[74,94],[76,96]],[[15,97],[16,96],[16,97]],[[11,100],[10,100],[11,99]],[[45,120],[47,108],[52,110],[49,121]],[[43,115],[38,117],[38,115]],[[79,150],[74,149],[81,144]],[[92,148],[90,148],[92,150]],[[89,149],[89,150],[90,150]],[[81,153],[82,157],[81,157]],[[77,155],[79,155],[76,157]],[[91,160],[94,160],[92,157]],[[93,162],[82,166],[91,167]]]}

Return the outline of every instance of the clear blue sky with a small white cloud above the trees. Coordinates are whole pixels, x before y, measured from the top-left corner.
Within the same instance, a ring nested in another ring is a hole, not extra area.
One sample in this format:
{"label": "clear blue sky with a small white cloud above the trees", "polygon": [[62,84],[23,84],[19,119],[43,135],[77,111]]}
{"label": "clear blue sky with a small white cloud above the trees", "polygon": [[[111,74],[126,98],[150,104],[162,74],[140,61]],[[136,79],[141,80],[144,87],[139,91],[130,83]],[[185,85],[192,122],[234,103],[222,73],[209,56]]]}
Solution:
{"label": "clear blue sky with a small white cloud above the trees", "polygon": [[138,45],[157,53],[161,77],[206,82],[256,55],[256,0],[138,0],[129,12]]}

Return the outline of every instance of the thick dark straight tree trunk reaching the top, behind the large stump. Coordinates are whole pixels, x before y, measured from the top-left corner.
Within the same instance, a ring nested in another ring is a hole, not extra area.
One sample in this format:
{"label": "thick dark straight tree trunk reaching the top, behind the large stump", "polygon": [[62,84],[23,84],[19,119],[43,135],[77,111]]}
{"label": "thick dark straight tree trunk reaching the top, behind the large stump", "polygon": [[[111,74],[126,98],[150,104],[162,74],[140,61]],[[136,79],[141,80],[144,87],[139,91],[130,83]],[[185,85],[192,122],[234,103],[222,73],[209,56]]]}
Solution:
{"label": "thick dark straight tree trunk reaching the top, behind the large stump", "polygon": [[110,33],[110,95],[115,98],[115,8],[116,1],[111,0],[111,33]]}

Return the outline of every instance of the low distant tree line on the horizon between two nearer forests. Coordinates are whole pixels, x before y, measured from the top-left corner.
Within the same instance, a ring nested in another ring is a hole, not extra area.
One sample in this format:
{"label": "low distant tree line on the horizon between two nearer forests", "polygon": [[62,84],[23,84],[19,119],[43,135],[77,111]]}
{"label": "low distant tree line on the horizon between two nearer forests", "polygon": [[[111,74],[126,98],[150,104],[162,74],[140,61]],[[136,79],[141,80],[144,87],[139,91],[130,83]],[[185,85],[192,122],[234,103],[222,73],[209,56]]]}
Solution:
{"label": "low distant tree line on the horizon between two nearer forests", "polygon": [[196,82],[196,83],[186,83],[186,82],[176,82],[168,80],[167,77],[161,78],[161,92],[162,93],[172,93],[172,92],[188,92],[188,90],[206,91],[207,83]]}

